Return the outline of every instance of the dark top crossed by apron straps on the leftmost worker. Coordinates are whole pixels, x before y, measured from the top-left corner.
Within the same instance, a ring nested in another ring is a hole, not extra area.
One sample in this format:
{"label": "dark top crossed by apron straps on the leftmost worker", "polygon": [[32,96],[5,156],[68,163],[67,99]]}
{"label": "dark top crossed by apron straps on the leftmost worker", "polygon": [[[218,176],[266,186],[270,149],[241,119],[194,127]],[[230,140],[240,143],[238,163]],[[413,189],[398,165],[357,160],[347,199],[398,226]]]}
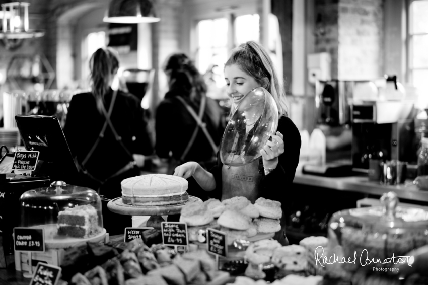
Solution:
{"label": "dark top crossed by apron straps on the leftmost worker", "polygon": [[[107,112],[112,95],[113,90],[110,89],[104,97]],[[153,153],[147,123],[144,119],[144,110],[134,95],[118,91],[111,121],[131,154],[150,155]],[[92,93],[73,96],[68,108],[64,134],[73,156],[77,157],[79,163],[82,163],[95,144],[104,122],[104,115],[97,110],[96,100]],[[131,158],[116,141],[110,127],[107,126],[104,137],[86,164],[86,169],[91,175],[104,180],[130,161]]]}

